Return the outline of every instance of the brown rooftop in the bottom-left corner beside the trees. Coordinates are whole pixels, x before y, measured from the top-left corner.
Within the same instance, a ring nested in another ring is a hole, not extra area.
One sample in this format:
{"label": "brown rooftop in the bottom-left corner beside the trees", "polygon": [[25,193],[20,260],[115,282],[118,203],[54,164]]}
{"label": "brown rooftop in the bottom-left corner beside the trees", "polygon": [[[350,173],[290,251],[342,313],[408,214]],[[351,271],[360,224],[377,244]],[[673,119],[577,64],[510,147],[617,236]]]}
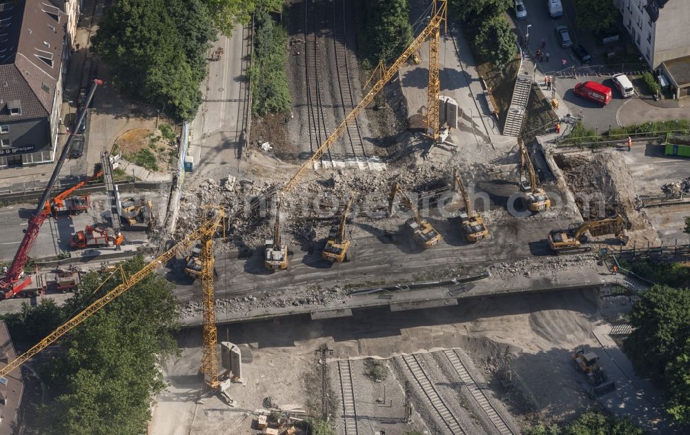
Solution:
{"label": "brown rooftop in the bottom-left corner beside the trees", "polygon": [[[14,358],[17,358],[17,354],[14,352],[10,332],[5,321],[0,320],[0,367],[5,367]],[[14,370],[6,378],[0,378],[0,435],[14,433],[23,391],[24,381],[19,370]]]}

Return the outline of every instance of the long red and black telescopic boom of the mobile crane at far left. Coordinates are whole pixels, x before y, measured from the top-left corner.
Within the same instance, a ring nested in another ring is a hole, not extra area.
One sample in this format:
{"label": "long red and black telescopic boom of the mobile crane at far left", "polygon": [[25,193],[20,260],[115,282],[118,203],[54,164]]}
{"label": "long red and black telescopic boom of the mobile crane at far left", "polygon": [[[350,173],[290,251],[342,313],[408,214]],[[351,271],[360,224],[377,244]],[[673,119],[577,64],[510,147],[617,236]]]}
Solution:
{"label": "long red and black telescopic boom of the mobile crane at far left", "polygon": [[[75,123],[75,125],[81,125],[84,117],[86,117],[86,109],[93,99],[93,94],[96,92],[96,88],[102,84],[103,81],[98,79],[94,80],[91,84],[91,88],[89,89],[88,94],[86,94],[86,99],[77,113],[77,123]],[[12,265],[10,265],[8,272],[6,272],[6,274],[0,278],[1,299],[11,298],[12,296],[21,292],[24,287],[31,283],[31,276],[24,275],[23,269],[29,259],[31,247],[34,245],[34,242],[39,235],[41,225],[43,225],[43,222],[48,219],[48,216],[50,216],[50,214],[44,213],[43,210],[45,210],[46,203],[48,203],[48,200],[50,199],[52,188],[55,185],[57,176],[60,174],[62,165],[65,163],[67,156],[70,154],[70,148],[72,148],[72,141],[75,138],[75,134],[76,131],[69,132],[67,143],[65,143],[65,147],[62,149],[62,153],[55,163],[55,170],[52,171],[52,176],[50,176],[50,181],[48,181],[48,185],[46,185],[46,190],[43,191],[43,196],[41,196],[41,200],[39,201],[36,210],[34,210],[33,214],[29,218],[29,225],[24,232],[24,237],[21,240],[21,243],[19,244],[17,254],[14,255]]]}

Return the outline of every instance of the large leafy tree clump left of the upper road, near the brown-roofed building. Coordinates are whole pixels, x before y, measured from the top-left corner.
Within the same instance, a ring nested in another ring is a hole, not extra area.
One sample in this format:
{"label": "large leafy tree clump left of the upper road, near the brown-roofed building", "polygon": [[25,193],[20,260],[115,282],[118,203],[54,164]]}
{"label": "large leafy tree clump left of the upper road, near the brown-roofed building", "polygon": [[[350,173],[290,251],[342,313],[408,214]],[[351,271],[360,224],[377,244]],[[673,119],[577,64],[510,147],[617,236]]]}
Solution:
{"label": "large leafy tree clump left of the upper road, near the brown-roofed building", "polygon": [[119,0],[92,38],[126,94],[193,119],[215,30],[199,0]]}

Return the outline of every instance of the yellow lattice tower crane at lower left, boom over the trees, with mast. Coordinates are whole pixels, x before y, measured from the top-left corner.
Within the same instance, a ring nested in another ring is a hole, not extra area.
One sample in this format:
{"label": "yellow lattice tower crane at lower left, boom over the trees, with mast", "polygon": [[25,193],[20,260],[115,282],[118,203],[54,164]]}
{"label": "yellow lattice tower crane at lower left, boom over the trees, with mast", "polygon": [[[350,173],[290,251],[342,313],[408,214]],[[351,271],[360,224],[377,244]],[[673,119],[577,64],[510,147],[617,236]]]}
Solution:
{"label": "yellow lattice tower crane at lower left, boom over the trees, with mast", "polygon": [[[171,247],[169,250],[158,256],[156,259],[145,265],[144,267],[132,274],[132,276],[126,276],[122,267],[119,267],[119,272],[121,274],[122,283],[117,285],[110,292],[101,296],[95,302],[93,302],[88,307],[84,308],[81,312],[76,314],[70,320],[66,321],[63,325],[57,328],[57,330],[51,332],[39,341],[36,345],[31,347],[29,350],[10,361],[8,365],[0,369],[0,377],[7,376],[17,367],[21,366],[26,361],[30,360],[32,356],[38,354],[42,350],[46,349],[52,343],[58,340],[61,336],[77,327],[83,321],[86,321],[92,314],[101,310],[101,308],[108,305],[129,290],[132,285],[139,283],[148,274],[156,270],[158,267],[168,263],[168,261],[175,258],[181,250],[190,246],[195,241],[201,241],[201,262],[203,267],[201,269],[201,292],[203,297],[203,316],[204,316],[204,327],[203,327],[203,342],[204,351],[201,359],[201,372],[204,374],[204,382],[213,389],[218,389],[219,374],[218,374],[218,354],[217,354],[217,334],[215,326],[215,299],[213,290],[213,236],[219,230],[219,227],[223,227],[224,223],[224,211],[215,210],[210,214],[204,216],[204,223],[194,232],[187,234],[184,239],[179,241],[175,246]],[[115,272],[112,272],[108,279],[112,277]],[[106,279],[106,281],[108,281]],[[105,283],[105,281],[103,282]],[[101,284],[102,285],[102,284]]]}

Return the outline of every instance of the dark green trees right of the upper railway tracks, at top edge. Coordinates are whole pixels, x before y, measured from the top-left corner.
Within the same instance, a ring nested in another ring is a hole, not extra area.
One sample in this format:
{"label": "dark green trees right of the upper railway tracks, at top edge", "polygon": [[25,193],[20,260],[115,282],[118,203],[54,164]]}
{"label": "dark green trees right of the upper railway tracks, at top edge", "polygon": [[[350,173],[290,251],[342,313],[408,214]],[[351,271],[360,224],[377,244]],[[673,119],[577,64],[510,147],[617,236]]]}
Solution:
{"label": "dark green trees right of the upper railway tracks, at top edge", "polygon": [[355,21],[362,23],[357,46],[373,64],[397,58],[412,43],[407,0],[371,0],[361,3]]}

